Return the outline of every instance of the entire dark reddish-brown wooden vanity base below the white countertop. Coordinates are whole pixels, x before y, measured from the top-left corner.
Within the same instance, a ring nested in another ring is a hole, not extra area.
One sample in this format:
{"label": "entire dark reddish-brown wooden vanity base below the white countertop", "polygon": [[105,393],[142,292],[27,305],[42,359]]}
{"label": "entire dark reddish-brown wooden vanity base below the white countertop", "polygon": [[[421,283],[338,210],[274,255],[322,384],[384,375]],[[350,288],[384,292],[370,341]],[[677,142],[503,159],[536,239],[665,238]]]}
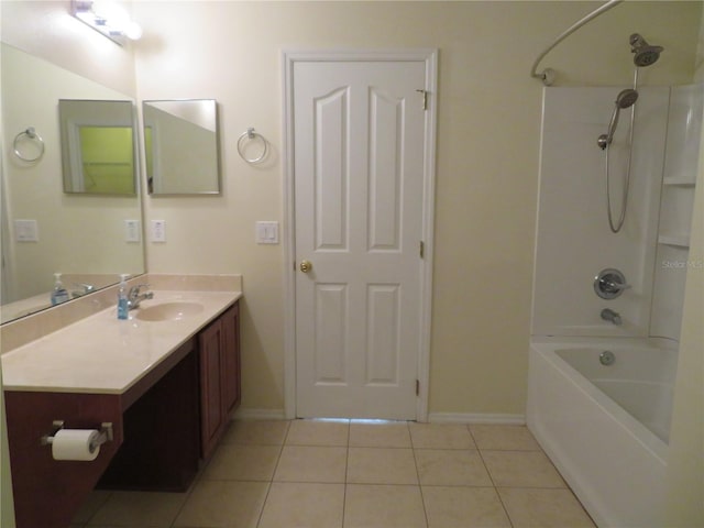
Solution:
{"label": "entire dark reddish-brown wooden vanity base below the white countertop", "polygon": [[[122,394],[6,391],[18,528],[65,528],[96,484],[188,490],[240,404],[240,372],[235,301]],[[95,461],[56,461],[41,438],[58,419],[69,429],[111,422],[113,439]]]}

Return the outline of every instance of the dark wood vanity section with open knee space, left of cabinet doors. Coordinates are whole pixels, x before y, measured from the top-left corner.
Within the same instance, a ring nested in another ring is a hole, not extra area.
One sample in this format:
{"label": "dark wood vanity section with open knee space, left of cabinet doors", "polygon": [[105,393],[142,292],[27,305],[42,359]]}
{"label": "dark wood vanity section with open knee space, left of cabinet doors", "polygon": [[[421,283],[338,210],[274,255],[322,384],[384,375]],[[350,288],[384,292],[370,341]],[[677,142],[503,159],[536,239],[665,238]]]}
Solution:
{"label": "dark wood vanity section with open knee space, left of cabinet doors", "polygon": [[[66,528],[96,485],[185,492],[198,471],[198,376],[188,340],[123,394],[6,391],[18,528]],[[96,460],[54,460],[40,439],[111,422]]]}

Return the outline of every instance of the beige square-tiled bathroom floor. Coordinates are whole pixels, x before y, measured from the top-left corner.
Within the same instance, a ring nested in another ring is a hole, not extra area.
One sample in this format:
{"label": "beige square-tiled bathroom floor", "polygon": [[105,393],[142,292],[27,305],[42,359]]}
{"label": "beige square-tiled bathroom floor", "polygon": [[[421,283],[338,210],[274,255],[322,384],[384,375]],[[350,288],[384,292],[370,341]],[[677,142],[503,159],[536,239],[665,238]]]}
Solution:
{"label": "beige square-tiled bathroom floor", "polygon": [[527,428],[234,421],[187,493],[96,491],[72,528],[579,528]]}

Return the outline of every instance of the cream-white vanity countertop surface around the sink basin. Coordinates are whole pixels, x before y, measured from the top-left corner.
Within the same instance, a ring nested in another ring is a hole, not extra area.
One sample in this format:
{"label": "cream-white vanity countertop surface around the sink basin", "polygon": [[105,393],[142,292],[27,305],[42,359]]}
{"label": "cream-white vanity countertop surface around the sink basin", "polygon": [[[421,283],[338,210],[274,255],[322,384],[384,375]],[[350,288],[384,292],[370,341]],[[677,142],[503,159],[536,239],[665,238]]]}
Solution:
{"label": "cream-white vanity countertop surface around the sink basin", "polygon": [[[3,354],[3,388],[123,394],[241,296],[156,290],[129,320],[119,320],[113,306]],[[140,309],[173,301],[199,302],[204,309],[179,320],[136,318]]]}

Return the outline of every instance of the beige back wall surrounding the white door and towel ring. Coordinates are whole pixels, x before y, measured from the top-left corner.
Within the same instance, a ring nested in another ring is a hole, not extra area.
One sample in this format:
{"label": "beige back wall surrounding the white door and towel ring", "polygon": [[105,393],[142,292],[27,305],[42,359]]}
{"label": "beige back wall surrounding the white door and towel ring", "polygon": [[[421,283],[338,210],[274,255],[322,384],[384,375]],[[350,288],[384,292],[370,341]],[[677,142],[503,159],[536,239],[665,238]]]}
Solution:
{"label": "beige back wall surrounding the white door and towel ring", "polygon": [[[529,77],[554,36],[594,2],[139,2],[141,99],[212,97],[224,191],[147,199],[168,242],[150,271],[242,273],[243,406],[283,408],[283,254],[254,244],[283,221],[282,50],[437,47],[439,56],[431,413],[522,415],[526,400],[542,85]],[[626,2],[543,62],[561,84],[628,84],[630,32],[667,47],[641,79],[692,79],[701,6]],[[273,145],[251,167],[248,127]]]}

